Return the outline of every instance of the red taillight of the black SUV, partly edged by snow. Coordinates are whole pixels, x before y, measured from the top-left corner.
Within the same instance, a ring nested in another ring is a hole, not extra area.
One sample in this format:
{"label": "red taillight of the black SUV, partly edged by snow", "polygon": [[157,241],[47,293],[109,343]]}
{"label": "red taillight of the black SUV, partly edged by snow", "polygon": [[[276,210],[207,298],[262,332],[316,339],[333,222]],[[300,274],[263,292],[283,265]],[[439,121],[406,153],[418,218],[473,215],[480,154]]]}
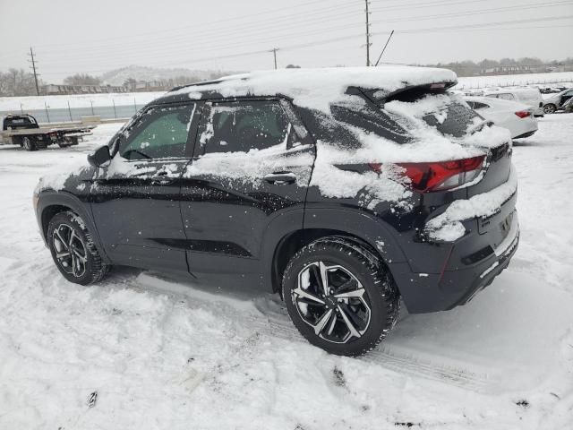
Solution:
{"label": "red taillight of the black SUV, partly edged by snow", "polygon": [[[433,163],[397,163],[404,168],[404,175],[412,187],[421,193],[448,190],[473,181],[482,171],[484,155],[471,159],[454,159]],[[380,172],[381,164],[371,164],[372,170]]]}

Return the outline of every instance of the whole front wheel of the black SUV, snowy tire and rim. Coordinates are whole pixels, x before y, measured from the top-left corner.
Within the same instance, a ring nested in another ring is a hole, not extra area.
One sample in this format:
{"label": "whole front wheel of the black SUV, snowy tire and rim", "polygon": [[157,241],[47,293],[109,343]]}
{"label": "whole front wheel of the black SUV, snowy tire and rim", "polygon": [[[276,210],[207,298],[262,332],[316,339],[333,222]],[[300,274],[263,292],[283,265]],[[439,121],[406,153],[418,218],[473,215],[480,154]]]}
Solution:
{"label": "whole front wheel of the black SUV, snowy tire and rim", "polygon": [[70,282],[88,285],[102,280],[109,271],[85,223],[71,211],[56,213],[50,219],[47,244],[56,267]]}

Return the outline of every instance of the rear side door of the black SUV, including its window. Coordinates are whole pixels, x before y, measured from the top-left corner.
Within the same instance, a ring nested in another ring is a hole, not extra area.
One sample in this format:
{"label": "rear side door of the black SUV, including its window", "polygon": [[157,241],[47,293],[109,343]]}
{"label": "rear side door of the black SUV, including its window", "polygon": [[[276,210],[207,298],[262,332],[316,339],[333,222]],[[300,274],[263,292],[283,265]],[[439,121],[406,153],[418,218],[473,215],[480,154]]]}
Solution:
{"label": "rear side door of the black SUV, including its window", "polygon": [[258,285],[266,246],[303,228],[314,156],[286,100],[205,103],[181,190],[192,274]]}

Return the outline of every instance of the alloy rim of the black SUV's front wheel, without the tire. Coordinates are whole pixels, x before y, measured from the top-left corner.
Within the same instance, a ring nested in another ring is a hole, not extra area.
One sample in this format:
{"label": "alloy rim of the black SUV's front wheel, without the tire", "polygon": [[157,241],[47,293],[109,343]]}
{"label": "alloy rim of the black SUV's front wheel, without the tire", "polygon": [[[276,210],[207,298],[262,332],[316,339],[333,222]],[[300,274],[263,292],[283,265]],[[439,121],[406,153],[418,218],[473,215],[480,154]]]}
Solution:
{"label": "alloy rim of the black SUV's front wheel, without the tire", "polygon": [[60,267],[66,273],[81,278],[86,272],[88,253],[75,229],[68,224],[60,224],[54,229],[52,244]]}

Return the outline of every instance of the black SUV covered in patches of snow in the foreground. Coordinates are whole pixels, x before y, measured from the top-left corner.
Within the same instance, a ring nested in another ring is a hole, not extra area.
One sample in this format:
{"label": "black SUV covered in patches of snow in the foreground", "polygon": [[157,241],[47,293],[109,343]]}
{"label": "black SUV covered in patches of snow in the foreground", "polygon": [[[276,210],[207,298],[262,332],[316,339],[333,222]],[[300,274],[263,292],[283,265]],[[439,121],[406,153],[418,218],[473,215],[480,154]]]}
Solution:
{"label": "black SUV covered in patches of snow in the foreground", "polygon": [[463,305],[517,249],[507,133],[440,69],[248,73],[168,92],[89,166],[43,179],[67,280],[112,265],[278,292],[312,344],[356,356]]}

